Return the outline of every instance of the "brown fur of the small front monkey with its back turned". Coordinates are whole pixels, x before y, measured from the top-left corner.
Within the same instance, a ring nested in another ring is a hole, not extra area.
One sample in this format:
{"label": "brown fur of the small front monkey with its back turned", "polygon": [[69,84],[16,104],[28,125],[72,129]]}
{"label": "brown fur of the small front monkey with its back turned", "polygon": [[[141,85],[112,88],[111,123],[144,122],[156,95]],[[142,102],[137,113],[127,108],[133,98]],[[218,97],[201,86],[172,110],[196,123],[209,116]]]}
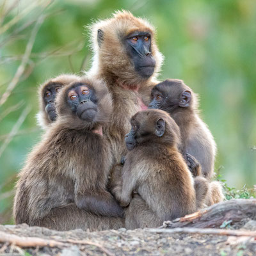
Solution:
{"label": "brown fur of the small front monkey with its back turned", "polygon": [[[154,134],[156,122],[163,118],[163,136]],[[177,145],[179,127],[161,110],[148,109],[132,117],[136,122],[137,145],[129,151],[122,173],[122,206],[127,228],[157,227],[163,221],[196,211],[193,178]],[[147,135],[143,135],[147,134]],[[133,191],[139,196],[132,198]]]}

